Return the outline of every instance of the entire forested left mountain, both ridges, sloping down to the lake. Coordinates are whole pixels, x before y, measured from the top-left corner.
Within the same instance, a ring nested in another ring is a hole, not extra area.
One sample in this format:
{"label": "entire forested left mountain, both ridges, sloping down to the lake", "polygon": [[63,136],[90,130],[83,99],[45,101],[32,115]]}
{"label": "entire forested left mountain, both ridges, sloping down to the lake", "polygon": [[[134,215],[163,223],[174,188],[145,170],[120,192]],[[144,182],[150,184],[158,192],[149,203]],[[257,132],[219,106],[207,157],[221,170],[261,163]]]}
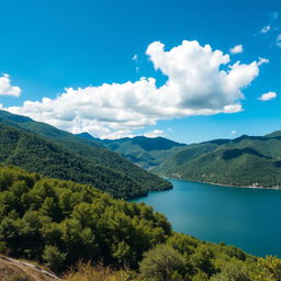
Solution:
{"label": "entire forested left mountain, both ridges, sloping down to the lake", "polygon": [[5,111],[0,111],[0,160],[5,164],[48,177],[91,183],[116,198],[171,188],[168,181],[92,139]]}

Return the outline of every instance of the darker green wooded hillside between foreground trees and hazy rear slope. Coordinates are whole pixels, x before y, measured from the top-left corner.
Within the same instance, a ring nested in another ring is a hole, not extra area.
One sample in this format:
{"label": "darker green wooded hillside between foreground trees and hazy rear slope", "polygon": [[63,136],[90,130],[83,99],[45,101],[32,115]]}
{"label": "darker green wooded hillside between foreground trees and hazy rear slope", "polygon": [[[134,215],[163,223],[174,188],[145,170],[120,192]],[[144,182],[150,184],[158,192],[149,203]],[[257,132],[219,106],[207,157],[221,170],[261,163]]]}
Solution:
{"label": "darker green wooded hillside between foreground trees and hazy rear slope", "polygon": [[55,143],[3,124],[0,124],[0,162],[16,165],[46,177],[89,183],[116,198],[147,192],[119,171],[94,165]]}

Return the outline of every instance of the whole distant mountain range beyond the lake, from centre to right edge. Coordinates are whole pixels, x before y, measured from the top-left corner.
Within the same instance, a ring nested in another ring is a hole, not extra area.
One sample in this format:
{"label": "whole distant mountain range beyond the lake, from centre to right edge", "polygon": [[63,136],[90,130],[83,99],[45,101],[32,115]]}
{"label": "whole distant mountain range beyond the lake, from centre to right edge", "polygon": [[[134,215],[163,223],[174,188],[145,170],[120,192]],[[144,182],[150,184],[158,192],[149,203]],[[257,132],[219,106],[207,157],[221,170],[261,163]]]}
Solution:
{"label": "whole distant mountain range beyond the lake, from centre to right edge", "polygon": [[160,176],[238,187],[281,187],[281,131],[191,145],[144,136],[94,140]]}

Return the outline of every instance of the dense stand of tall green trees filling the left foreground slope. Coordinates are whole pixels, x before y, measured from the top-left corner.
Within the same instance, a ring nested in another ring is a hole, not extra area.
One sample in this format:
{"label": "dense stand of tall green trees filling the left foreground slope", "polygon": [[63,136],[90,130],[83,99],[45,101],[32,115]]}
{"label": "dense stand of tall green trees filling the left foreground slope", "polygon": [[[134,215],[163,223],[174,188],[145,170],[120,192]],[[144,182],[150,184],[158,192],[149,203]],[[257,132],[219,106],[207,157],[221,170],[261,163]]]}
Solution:
{"label": "dense stand of tall green trees filling the left foreground slope", "polygon": [[52,258],[64,268],[80,259],[134,268],[144,251],[170,235],[166,217],[145,204],[0,167],[0,241],[14,257],[45,260],[53,268]]}

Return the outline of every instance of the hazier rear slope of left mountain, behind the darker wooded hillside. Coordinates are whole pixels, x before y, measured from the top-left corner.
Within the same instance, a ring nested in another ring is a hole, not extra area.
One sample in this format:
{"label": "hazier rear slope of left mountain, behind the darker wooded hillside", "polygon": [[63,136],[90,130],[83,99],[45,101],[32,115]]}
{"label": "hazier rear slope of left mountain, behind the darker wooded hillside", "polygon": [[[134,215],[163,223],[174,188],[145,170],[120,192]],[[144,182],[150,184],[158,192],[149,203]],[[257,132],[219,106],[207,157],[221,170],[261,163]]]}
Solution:
{"label": "hazier rear slope of left mountain, behind the darker wooded hillside", "polygon": [[0,122],[40,134],[59,146],[87,158],[93,165],[114,169],[137,182],[143,190],[165,190],[171,188],[168,181],[140,169],[93,139],[85,139],[48,124],[35,122],[29,117],[11,114],[5,111],[0,111]]}

